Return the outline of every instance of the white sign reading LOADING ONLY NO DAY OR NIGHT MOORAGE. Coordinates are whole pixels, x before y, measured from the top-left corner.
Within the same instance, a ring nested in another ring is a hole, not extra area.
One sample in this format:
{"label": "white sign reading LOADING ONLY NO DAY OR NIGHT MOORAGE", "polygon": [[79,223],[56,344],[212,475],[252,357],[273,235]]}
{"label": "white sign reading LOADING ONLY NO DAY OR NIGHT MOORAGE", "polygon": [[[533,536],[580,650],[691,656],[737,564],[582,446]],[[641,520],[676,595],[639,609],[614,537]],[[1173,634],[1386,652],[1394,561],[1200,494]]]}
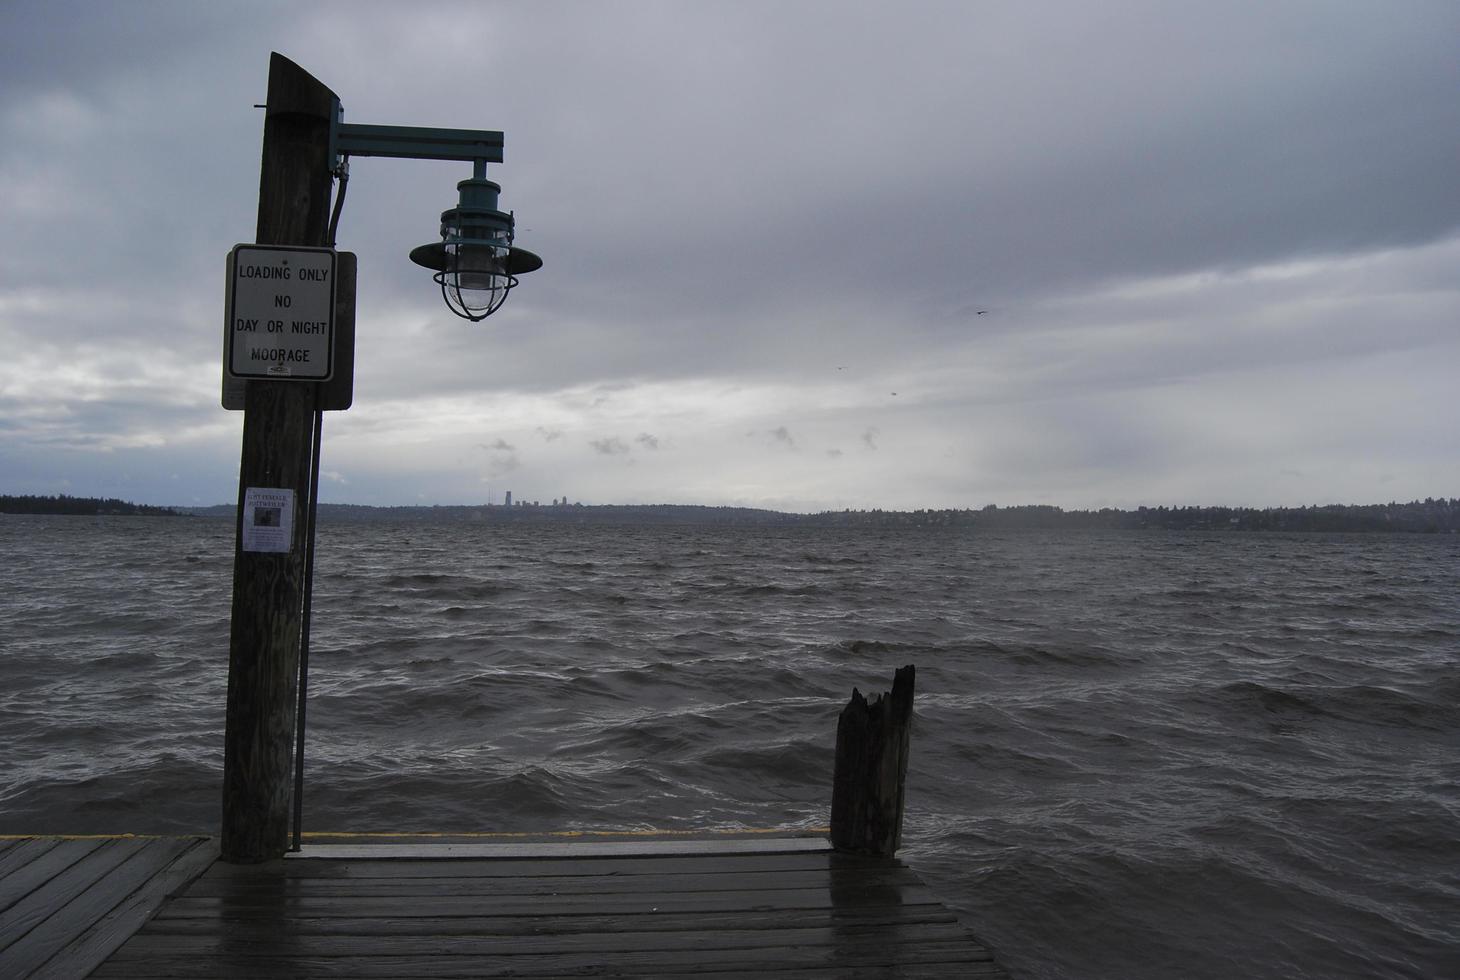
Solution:
{"label": "white sign reading LOADING ONLY NO DAY OR NIGHT MOORAGE", "polygon": [[234,245],[225,374],[327,381],[334,370],[334,273],[333,248]]}

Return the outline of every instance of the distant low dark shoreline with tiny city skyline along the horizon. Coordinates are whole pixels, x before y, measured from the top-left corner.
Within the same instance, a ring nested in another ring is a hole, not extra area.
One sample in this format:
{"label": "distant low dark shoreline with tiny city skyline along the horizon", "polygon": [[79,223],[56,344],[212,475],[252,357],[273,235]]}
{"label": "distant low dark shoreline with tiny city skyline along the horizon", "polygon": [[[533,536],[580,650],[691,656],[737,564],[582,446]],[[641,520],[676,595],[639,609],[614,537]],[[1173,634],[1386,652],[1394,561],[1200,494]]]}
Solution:
{"label": "distant low dark shoreline with tiny city skyline along the horizon", "polygon": [[[234,504],[150,507],[114,498],[4,497],[0,514],[220,517]],[[1136,510],[1063,510],[1051,505],[972,510],[841,510],[787,514],[752,507],[695,504],[458,504],[434,507],[366,507],[320,504],[323,523],[492,523],[492,524],[721,524],[758,527],[975,527],[984,530],[1279,530],[1460,533],[1460,498],[1426,498],[1406,504],[1326,504],[1320,507],[1140,507]]]}

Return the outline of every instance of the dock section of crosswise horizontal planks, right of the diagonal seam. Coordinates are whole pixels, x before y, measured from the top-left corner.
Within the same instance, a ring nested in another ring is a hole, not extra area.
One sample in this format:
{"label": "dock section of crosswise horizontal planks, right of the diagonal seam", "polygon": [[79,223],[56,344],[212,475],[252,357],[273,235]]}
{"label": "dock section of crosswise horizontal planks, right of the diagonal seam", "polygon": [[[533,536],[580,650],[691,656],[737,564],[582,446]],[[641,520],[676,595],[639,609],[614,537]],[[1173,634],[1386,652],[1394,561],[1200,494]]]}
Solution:
{"label": "dock section of crosswise horizontal planks, right of the diagonal seam", "polygon": [[901,862],[634,850],[213,865],[93,976],[1003,976]]}

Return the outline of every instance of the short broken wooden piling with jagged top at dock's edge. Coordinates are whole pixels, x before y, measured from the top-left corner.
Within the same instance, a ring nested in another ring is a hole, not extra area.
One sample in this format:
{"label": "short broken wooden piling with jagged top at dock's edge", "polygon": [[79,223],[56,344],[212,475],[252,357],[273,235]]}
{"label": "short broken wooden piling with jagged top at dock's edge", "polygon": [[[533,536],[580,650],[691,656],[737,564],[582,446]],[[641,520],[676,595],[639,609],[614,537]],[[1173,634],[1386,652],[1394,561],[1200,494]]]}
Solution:
{"label": "short broken wooden piling with jagged top at dock's edge", "polygon": [[831,844],[837,850],[882,857],[898,850],[915,673],[912,665],[901,667],[892,692],[870,704],[853,688],[837,719],[831,790]]}

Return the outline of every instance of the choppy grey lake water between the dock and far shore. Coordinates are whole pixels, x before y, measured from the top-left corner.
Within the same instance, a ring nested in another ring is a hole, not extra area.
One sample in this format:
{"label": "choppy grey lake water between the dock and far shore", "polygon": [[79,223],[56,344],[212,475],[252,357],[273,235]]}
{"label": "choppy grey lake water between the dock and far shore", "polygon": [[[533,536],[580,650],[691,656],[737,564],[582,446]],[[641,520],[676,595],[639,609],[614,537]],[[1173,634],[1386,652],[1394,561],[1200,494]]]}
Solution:
{"label": "choppy grey lake water between the dock and far shore", "polygon": [[[232,524],[0,518],[0,832],[215,832]],[[320,529],[307,828],[815,827],[1022,977],[1460,976],[1460,540]]]}

